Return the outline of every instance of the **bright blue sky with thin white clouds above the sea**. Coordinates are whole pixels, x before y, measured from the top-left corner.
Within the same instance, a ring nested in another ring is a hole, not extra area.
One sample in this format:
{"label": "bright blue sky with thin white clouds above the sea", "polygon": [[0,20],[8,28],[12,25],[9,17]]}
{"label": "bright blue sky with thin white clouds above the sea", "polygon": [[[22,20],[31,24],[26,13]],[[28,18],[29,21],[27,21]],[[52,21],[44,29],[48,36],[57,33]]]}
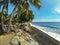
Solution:
{"label": "bright blue sky with thin white clouds above the sea", "polygon": [[[41,0],[41,8],[37,9],[32,4],[29,9],[33,11],[33,22],[60,22],[60,0]],[[14,8],[9,4],[10,14]]]}

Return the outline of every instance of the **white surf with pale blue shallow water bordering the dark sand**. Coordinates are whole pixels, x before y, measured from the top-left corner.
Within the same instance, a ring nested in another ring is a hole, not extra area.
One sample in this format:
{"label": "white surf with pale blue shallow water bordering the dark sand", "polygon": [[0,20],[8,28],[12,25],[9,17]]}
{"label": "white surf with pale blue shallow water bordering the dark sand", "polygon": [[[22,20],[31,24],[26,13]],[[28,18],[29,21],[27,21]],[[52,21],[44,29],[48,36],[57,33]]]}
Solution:
{"label": "white surf with pale blue shallow water bordering the dark sand", "polygon": [[[56,29],[53,29],[53,28],[51,30],[51,28],[48,29],[47,27],[38,26],[38,25],[34,25],[34,24],[31,24],[31,26],[39,29],[40,31],[48,34],[49,36],[53,37],[54,39],[60,41],[60,34],[58,34],[58,32],[60,32],[59,30],[56,30]],[[57,33],[56,33],[56,31],[57,31]]]}

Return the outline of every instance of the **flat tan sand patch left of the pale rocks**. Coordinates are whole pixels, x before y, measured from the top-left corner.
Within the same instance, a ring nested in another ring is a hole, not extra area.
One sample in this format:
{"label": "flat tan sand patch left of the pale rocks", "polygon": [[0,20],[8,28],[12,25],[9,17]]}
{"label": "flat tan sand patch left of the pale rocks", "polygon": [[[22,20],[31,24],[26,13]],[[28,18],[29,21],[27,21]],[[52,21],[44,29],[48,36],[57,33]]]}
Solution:
{"label": "flat tan sand patch left of the pale rocks", "polygon": [[15,36],[15,33],[0,35],[0,45],[10,45],[10,40]]}

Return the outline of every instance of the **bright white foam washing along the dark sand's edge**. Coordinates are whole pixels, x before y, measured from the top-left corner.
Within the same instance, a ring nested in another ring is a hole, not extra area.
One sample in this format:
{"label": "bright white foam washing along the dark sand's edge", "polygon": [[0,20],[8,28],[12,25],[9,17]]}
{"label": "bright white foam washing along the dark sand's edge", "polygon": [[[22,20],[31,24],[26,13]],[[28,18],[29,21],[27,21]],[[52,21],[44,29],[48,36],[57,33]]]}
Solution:
{"label": "bright white foam washing along the dark sand's edge", "polygon": [[[31,26],[39,29],[40,31],[42,31],[42,32],[48,34],[49,36],[55,38],[56,40],[60,41],[60,35],[59,35],[59,34],[53,33],[53,32],[44,31],[44,27],[42,27],[42,26],[37,26],[37,25],[33,25],[33,24],[31,24]],[[46,28],[46,27],[45,27],[45,28]]]}

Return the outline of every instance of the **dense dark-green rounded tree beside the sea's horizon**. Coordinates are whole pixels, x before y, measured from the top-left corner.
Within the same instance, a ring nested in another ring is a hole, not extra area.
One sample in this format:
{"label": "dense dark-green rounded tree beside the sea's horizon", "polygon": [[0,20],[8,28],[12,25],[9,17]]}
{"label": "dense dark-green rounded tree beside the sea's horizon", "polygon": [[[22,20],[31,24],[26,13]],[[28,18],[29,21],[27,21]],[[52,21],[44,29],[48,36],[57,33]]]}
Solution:
{"label": "dense dark-green rounded tree beside the sea's horizon", "polygon": [[32,13],[31,10],[28,10],[29,14],[26,15],[26,11],[17,17],[18,22],[32,22],[34,19],[34,14]]}

